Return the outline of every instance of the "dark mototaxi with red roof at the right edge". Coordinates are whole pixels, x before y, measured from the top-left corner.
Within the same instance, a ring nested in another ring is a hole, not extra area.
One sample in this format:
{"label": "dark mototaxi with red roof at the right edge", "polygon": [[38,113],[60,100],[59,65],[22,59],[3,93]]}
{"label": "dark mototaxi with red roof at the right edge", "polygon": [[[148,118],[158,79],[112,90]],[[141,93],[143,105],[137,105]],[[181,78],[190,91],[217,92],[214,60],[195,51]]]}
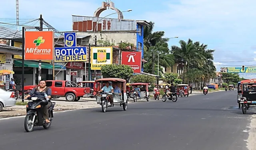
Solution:
{"label": "dark mototaxi with red roof at the right edge", "polygon": [[250,107],[256,107],[256,79],[241,81],[242,96],[238,98],[242,113],[246,114]]}

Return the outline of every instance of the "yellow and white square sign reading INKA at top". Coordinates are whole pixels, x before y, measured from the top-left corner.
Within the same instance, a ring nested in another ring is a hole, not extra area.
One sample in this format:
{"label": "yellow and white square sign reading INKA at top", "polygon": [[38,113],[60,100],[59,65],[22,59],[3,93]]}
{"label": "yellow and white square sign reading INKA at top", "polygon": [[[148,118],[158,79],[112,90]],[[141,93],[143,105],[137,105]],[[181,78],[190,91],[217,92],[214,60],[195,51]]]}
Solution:
{"label": "yellow and white square sign reading INKA at top", "polygon": [[102,65],[112,64],[112,47],[92,47],[91,68],[101,70]]}

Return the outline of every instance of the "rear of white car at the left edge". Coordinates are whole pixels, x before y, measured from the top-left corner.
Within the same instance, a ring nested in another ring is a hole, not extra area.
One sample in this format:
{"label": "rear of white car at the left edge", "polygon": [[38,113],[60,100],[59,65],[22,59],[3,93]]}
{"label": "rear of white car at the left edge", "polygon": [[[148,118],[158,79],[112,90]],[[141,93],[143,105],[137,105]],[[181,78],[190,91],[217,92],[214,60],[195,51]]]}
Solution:
{"label": "rear of white car at the left edge", "polygon": [[0,89],[0,111],[3,107],[11,107],[16,105],[14,92],[8,92]]}

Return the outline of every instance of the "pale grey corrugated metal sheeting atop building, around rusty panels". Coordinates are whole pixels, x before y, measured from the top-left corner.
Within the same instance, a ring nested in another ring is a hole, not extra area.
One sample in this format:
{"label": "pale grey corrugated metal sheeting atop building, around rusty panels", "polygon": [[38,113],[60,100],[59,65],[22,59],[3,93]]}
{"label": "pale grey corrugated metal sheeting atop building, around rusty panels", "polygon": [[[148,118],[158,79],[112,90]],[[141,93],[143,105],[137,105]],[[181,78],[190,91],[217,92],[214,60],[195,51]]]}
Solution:
{"label": "pale grey corrugated metal sheeting atop building, around rusty panels", "polygon": [[[73,24],[76,22],[80,21],[88,21],[91,20],[92,22],[97,22],[102,18],[97,18],[97,17],[84,17],[84,16],[72,16],[72,22]],[[104,21],[105,24],[110,22],[110,29],[104,26]],[[128,19],[112,19],[112,18],[104,18],[102,19],[99,23],[101,24],[101,29],[102,31],[135,31],[136,30],[136,20],[128,20]],[[99,25],[99,24],[98,24]]]}

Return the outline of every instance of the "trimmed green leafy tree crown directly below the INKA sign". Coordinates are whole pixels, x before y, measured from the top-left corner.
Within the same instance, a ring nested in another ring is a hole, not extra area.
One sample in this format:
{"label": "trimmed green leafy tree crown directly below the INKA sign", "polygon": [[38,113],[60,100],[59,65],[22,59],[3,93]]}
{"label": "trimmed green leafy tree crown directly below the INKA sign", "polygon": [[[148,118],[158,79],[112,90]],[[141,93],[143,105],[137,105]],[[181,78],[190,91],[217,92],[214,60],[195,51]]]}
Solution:
{"label": "trimmed green leafy tree crown directly below the INKA sign", "polygon": [[121,78],[129,80],[133,74],[132,67],[120,64],[106,64],[102,66],[101,73],[103,78]]}

